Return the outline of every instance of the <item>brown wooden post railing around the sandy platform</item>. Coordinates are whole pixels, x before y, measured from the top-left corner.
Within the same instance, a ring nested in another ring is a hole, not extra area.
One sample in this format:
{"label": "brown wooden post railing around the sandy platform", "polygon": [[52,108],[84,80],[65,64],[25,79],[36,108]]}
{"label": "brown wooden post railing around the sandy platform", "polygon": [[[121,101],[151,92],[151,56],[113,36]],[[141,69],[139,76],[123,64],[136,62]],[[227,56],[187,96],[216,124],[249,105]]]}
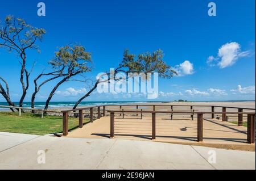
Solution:
{"label": "brown wooden post railing around the sandy platform", "polygon": [[[136,111],[125,111],[123,107],[134,107]],[[24,108],[24,107],[13,107],[13,106],[0,106],[4,108],[14,108],[16,110],[19,110],[19,115],[21,115],[21,110],[35,110],[43,112],[45,110],[40,110],[36,108]],[[103,111],[101,113],[101,107],[103,108]],[[238,125],[243,125],[243,115],[247,115],[247,121],[248,121],[248,127],[247,127],[247,141],[249,143],[255,142],[255,109],[254,108],[241,108],[241,107],[225,107],[225,106],[204,106],[204,105],[168,105],[168,104],[117,104],[117,105],[97,105],[97,106],[90,106],[90,107],[81,107],[77,108],[75,110],[63,110],[63,111],[55,111],[55,110],[47,110],[47,112],[61,112],[63,113],[63,136],[68,135],[68,113],[76,113],[77,111],[79,113],[79,127],[82,128],[83,126],[83,120],[84,120],[84,110],[89,110],[90,115],[90,122],[93,122],[93,115],[97,114],[97,118],[100,119],[101,115],[106,116],[106,107],[119,107],[119,110],[110,110],[108,111],[110,113],[110,137],[114,136],[114,114],[118,113],[119,116],[124,117],[124,113],[136,113],[141,114],[141,119],[143,116],[143,113],[151,113],[152,115],[152,139],[155,139],[155,115],[156,113],[167,113],[171,115],[171,119],[175,113],[181,113],[181,114],[190,114],[191,118],[193,120],[193,115],[197,114],[197,141],[203,141],[203,116],[205,114],[210,114],[212,119],[215,117],[216,114],[222,115],[222,121],[227,121],[226,115],[232,114],[232,115],[238,115]],[[145,111],[142,109],[139,109],[140,107],[152,107],[152,111]],[[155,111],[156,107],[170,107],[171,111]],[[175,111],[175,107],[189,107],[188,110],[190,111]],[[194,107],[207,107],[210,108],[211,111],[195,111],[193,110]],[[94,113],[94,108],[97,108],[97,112]],[[215,111],[215,108],[222,108],[222,111]],[[227,112],[227,108],[237,109],[238,112]],[[254,112],[243,112],[244,110],[251,110]]]}

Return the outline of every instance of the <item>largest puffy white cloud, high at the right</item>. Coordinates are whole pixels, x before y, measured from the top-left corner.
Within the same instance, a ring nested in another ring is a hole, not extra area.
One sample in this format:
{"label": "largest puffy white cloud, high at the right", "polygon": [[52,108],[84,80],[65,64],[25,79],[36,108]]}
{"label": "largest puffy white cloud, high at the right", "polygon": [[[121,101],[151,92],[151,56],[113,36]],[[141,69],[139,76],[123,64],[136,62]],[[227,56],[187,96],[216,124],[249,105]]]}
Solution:
{"label": "largest puffy white cloud, high at the right", "polygon": [[221,69],[232,66],[236,63],[238,58],[249,56],[250,51],[241,51],[241,45],[232,42],[226,43],[218,49],[218,56],[209,56],[207,59],[207,64],[209,66],[219,66]]}

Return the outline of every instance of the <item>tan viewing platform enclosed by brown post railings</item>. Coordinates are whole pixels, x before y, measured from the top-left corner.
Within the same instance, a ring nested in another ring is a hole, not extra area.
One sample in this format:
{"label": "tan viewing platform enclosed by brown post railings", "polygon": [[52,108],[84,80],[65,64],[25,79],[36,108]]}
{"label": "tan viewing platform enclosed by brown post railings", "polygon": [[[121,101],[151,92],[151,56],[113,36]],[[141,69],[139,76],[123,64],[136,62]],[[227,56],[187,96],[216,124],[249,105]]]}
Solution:
{"label": "tan viewing platform enclosed by brown post railings", "polygon": [[[35,110],[42,113],[44,111]],[[125,104],[82,107],[76,110],[63,110],[61,113],[63,136],[68,137],[114,137],[189,145],[228,145],[226,148],[237,149],[243,146],[243,149],[246,147],[247,150],[255,150],[255,109],[253,108]],[[79,117],[79,128],[68,134],[68,117],[74,115]],[[84,125],[85,115],[89,115],[90,123]],[[221,117],[216,119],[216,116]],[[237,121],[237,124],[229,123],[228,120]],[[246,122],[247,128],[242,126]]]}

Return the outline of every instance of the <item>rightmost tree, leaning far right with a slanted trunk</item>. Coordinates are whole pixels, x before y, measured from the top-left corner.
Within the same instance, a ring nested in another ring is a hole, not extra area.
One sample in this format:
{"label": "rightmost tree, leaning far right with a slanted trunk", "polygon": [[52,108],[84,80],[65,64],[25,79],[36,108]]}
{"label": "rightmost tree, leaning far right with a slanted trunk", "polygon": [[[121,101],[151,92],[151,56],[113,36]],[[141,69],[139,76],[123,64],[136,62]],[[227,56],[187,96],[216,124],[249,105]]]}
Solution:
{"label": "rightmost tree, leaning far right with a slanted trunk", "polygon": [[[138,54],[138,56],[136,54],[130,54],[129,50],[125,50],[123,53],[123,60],[119,63],[118,67],[114,69],[114,74],[125,73],[126,75],[128,75],[128,73],[147,74],[152,72],[157,72],[160,78],[168,79],[171,79],[175,74],[177,74],[171,66],[163,61],[163,51],[160,49],[152,53],[146,52]],[[109,74],[110,72],[106,73],[106,75]],[[100,83],[109,81],[110,78],[102,81],[100,80],[100,77],[93,81],[93,85],[90,87],[89,91],[76,102],[73,109],[79,106],[82,100],[90,96]]]}

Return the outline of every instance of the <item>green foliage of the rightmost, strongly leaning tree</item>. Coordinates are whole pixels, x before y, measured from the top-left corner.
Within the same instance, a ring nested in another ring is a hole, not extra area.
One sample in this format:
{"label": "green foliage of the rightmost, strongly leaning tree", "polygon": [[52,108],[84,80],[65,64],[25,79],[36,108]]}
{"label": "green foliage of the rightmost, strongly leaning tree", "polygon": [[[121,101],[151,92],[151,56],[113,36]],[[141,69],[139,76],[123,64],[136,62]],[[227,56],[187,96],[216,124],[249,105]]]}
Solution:
{"label": "green foliage of the rightmost, strongly leaning tree", "polygon": [[126,68],[127,72],[137,73],[159,73],[161,78],[172,78],[176,73],[171,66],[163,61],[163,51],[156,50],[155,52],[146,52],[139,54],[129,54],[129,50],[123,53],[123,60],[120,67]]}

